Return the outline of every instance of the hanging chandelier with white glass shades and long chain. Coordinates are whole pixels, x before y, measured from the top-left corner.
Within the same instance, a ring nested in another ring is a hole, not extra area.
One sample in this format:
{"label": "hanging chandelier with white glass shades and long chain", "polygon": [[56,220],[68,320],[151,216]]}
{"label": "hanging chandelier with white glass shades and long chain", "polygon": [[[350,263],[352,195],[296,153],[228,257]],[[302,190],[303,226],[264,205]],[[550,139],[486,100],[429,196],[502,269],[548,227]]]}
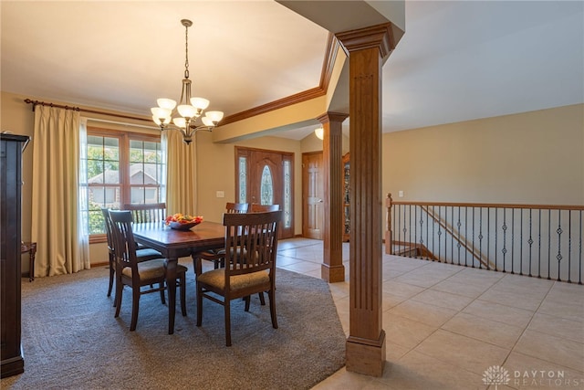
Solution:
{"label": "hanging chandelier with white glass shades and long chain", "polygon": [[[219,121],[223,119],[222,111],[203,111],[209,106],[209,100],[203,98],[191,98],[191,80],[189,79],[189,27],[193,22],[188,19],[181,20],[185,27],[184,33],[184,79],[183,90],[179,105],[172,99],[158,99],[158,107],[151,108],[152,120],[164,129],[172,129],[183,132],[183,142],[187,145],[193,142],[193,134],[197,130],[206,130],[211,132]],[[179,116],[172,118],[174,108]],[[200,120],[200,121],[198,121]],[[172,123],[171,123],[172,121]]]}

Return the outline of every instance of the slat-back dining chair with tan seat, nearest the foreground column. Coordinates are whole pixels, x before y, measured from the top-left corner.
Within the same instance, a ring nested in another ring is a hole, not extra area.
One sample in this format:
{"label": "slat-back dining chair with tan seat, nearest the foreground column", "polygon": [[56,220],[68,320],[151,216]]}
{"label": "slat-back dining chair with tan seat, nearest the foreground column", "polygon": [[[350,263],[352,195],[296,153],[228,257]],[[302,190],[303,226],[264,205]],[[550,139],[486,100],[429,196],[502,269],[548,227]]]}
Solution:
{"label": "slat-back dining chair with tan seat, nearest the foreground column", "polygon": [[[202,271],[195,266],[197,286],[197,326],[203,322],[203,298],[224,306],[225,343],[231,345],[231,300],[267,291],[272,327],[276,320],[276,251],[281,211],[254,214],[224,214],[225,267]],[[223,300],[221,299],[223,297]]]}

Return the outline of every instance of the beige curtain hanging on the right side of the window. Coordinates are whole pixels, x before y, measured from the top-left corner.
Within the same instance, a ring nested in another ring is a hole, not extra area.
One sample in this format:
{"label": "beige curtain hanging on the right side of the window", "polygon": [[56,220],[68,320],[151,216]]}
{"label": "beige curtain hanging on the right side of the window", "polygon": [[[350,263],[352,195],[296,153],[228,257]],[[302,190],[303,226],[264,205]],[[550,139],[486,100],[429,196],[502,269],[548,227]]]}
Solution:
{"label": "beige curtain hanging on the right side of the window", "polygon": [[[164,141],[166,138],[166,141]],[[162,144],[167,145],[166,210],[169,215],[196,215],[194,142],[187,145],[183,134],[175,130],[162,132]]]}

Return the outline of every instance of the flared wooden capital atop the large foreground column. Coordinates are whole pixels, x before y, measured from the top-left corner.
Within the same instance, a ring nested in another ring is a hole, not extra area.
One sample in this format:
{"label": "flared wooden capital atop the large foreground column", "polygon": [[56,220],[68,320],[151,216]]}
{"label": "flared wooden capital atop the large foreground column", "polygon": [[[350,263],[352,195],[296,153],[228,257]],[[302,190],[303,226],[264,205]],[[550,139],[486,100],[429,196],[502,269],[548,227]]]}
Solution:
{"label": "flared wooden capital atop the large foreground column", "polygon": [[396,45],[391,23],[345,31],[337,33],[335,37],[339,39],[347,56],[351,51],[379,47],[381,58],[385,58]]}

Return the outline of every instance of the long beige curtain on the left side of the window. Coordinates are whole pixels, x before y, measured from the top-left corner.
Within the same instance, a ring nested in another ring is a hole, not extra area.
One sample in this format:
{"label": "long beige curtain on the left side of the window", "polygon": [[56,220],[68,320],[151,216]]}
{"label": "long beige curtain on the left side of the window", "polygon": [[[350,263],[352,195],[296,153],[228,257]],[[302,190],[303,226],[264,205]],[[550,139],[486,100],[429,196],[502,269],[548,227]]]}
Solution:
{"label": "long beige curtain on the left side of the window", "polygon": [[89,269],[79,221],[79,112],[36,106],[31,239],[36,277]]}

